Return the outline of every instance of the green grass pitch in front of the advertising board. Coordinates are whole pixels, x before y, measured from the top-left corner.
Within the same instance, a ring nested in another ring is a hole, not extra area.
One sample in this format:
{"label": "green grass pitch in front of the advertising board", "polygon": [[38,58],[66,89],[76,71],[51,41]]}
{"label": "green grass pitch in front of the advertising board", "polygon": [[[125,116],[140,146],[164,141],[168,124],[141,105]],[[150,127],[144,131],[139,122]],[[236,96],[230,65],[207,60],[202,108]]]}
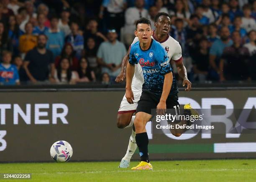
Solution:
{"label": "green grass pitch in front of the advertising board", "polygon": [[118,169],[119,162],[10,163],[0,173],[32,173],[35,182],[255,182],[256,160],[152,161],[153,171]]}

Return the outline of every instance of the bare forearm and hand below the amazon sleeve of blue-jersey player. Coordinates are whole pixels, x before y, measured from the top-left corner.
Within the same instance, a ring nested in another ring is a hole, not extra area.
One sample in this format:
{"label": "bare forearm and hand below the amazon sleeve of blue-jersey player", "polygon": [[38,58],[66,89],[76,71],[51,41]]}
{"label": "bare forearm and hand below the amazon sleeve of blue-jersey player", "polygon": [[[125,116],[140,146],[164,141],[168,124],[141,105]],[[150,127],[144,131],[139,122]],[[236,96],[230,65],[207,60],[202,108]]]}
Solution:
{"label": "bare forearm and hand below the amazon sleeve of blue-jersey player", "polygon": [[160,98],[160,102],[156,107],[157,112],[160,115],[164,115],[164,112],[166,110],[166,100],[172,87],[172,80],[173,80],[172,72],[169,72],[166,75],[164,75],[163,92]]}

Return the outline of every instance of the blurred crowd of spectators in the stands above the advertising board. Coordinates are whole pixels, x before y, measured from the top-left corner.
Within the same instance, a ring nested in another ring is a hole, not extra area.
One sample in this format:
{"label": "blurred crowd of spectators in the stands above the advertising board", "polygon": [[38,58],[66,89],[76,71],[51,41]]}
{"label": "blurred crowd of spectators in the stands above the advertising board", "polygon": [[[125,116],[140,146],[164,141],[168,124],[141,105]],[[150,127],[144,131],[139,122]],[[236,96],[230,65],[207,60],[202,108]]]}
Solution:
{"label": "blurred crowd of spectators in the stands above the advertising board", "polygon": [[256,0],[1,0],[0,85],[112,84],[136,20],[155,29],[158,12],[189,80],[256,80]]}

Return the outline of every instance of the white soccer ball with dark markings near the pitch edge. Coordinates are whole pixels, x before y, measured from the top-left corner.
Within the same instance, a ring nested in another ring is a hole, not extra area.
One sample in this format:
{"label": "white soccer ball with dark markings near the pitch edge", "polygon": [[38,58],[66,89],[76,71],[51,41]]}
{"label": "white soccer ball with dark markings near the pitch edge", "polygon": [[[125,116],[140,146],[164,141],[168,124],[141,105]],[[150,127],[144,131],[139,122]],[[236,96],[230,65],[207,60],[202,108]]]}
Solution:
{"label": "white soccer ball with dark markings near the pitch edge", "polygon": [[73,149],[68,142],[60,140],[51,146],[50,153],[55,161],[67,162],[73,155]]}

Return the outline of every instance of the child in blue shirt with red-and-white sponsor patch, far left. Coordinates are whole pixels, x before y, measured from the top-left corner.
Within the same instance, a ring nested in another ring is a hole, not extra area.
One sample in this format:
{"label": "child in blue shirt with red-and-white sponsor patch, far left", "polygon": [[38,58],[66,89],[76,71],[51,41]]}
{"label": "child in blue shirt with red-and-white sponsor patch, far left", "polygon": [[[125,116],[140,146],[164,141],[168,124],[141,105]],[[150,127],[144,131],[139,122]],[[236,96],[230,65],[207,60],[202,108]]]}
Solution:
{"label": "child in blue shirt with red-and-white sponsor patch, far left", "polygon": [[3,51],[3,62],[0,63],[0,85],[20,85],[18,70],[10,64],[12,53]]}

